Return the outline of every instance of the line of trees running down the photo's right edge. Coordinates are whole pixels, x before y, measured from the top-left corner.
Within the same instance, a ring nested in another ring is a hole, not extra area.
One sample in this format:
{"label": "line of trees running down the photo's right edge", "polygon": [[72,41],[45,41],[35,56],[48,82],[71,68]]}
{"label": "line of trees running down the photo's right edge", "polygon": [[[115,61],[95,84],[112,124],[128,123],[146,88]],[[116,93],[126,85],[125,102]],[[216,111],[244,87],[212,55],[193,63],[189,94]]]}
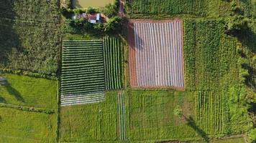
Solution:
{"label": "line of trees running down the photo's right edge", "polygon": [[[251,34],[252,30],[250,25],[255,20],[255,16],[245,16],[244,9],[242,8],[239,0],[230,1],[232,14],[229,17],[226,25],[226,34],[237,37],[241,41],[241,45],[237,46],[237,51],[240,55],[238,59],[239,64],[239,81],[242,85],[244,102],[248,105],[248,111],[255,117],[256,112],[256,83],[253,79],[256,74],[256,55],[255,51],[247,46],[245,41],[252,42],[256,40],[255,36]],[[256,5],[255,5],[256,6]],[[252,11],[252,14],[254,12]],[[247,37],[250,36],[250,39]],[[245,39],[244,39],[245,38]],[[256,45],[252,45],[256,46]],[[253,66],[255,65],[255,66]],[[248,132],[250,142],[256,143],[256,128]]]}

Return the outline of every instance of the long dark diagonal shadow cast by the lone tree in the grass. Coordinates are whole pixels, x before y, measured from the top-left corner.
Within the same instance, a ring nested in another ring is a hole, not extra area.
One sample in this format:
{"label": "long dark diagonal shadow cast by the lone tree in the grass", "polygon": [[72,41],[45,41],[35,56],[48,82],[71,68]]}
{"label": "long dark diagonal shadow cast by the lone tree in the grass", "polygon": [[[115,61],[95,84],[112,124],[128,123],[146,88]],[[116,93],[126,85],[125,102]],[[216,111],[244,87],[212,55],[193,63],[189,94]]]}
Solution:
{"label": "long dark diagonal shadow cast by the lone tree in the grass", "polygon": [[203,129],[201,129],[200,127],[198,127],[198,126],[196,125],[196,122],[193,120],[192,117],[188,117],[188,118],[187,118],[187,117],[185,117],[184,115],[183,115],[183,117],[186,119],[186,122],[188,122],[188,123],[187,123],[188,126],[191,127],[191,128],[193,128],[193,129],[196,131],[197,134],[199,134],[201,137],[203,137],[203,138],[204,138],[204,141],[210,142],[210,138],[207,136],[206,132],[204,132]]}

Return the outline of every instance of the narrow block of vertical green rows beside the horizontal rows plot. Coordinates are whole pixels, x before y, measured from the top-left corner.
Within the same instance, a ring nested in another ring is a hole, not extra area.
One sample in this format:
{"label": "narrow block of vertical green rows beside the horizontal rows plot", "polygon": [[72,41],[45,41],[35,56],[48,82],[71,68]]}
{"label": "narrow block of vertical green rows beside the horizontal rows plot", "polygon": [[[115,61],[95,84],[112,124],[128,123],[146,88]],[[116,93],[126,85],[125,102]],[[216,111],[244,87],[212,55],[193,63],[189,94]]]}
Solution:
{"label": "narrow block of vertical green rows beside the horizontal rows plot", "polygon": [[122,88],[122,42],[116,38],[104,39],[106,89]]}

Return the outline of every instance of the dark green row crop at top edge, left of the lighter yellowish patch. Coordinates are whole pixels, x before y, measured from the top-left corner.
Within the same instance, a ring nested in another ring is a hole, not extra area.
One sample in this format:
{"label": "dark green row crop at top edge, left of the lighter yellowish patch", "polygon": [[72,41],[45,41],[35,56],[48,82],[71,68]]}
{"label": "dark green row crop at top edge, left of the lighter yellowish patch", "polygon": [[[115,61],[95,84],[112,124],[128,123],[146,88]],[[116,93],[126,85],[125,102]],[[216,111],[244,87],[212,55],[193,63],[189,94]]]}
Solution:
{"label": "dark green row crop at top edge, left of the lighter yellowish patch", "polygon": [[129,0],[132,14],[194,14],[206,15],[206,0]]}

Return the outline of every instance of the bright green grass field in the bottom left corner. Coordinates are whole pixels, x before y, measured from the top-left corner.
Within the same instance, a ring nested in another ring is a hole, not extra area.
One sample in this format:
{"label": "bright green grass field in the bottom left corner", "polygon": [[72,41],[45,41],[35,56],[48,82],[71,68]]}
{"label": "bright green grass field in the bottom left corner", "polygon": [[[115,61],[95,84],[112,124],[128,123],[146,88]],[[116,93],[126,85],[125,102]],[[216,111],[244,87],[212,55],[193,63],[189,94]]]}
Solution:
{"label": "bright green grass field in the bottom left corner", "polygon": [[55,114],[0,108],[0,142],[55,142],[55,122]]}

